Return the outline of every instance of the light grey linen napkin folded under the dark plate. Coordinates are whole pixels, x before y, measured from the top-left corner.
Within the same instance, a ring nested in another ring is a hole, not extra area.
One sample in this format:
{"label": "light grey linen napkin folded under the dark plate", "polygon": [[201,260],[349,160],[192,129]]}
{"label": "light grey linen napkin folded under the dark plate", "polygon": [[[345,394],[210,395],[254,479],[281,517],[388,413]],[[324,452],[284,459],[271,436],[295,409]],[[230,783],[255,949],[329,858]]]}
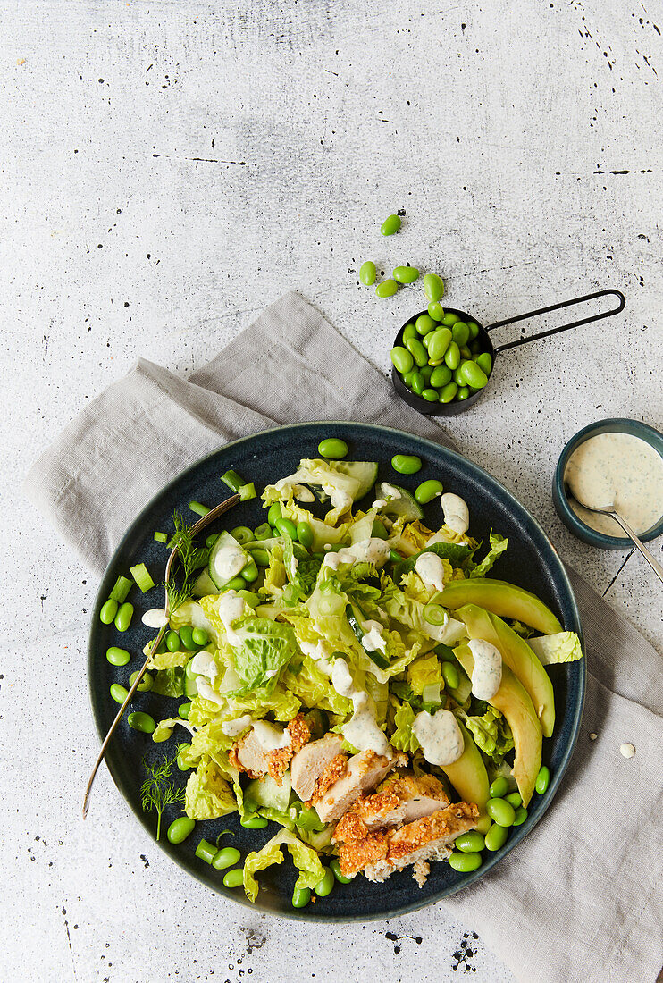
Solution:
{"label": "light grey linen napkin folded under the dark plate", "polygon": [[[350,417],[452,446],[288,294],[186,381],[139,360],[45,451],[25,491],[101,572],[154,490],[198,458],[274,425]],[[663,954],[660,657],[573,571],[572,581],[589,670],[572,763],[532,835],[443,903],[525,983],[653,981]],[[624,741],[634,758],[620,754]]]}

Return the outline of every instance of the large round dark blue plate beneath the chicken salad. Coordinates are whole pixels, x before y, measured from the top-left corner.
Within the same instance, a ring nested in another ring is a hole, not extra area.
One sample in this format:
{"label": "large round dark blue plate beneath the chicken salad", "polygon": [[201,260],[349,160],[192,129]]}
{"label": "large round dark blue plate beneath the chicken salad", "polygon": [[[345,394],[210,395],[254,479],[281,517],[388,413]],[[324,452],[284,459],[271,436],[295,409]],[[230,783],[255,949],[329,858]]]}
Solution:
{"label": "large round dark blue plate beneath the chicken salad", "polygon": [[[153,636],[153,631],[141,623],[140,615],[149,607],[163,607],[160,588],[154,588],[144,597],[135,588],[131,600],[135,603],[136,613],[129,631],[123,635],[113,625],[102,625],[98,612],[118,574],[127,574],[130,566],[144,561],[148,569],[158,576],[163,569],[166,550],[154,543],[152,534],[155,530],[168,532],[172,529],[171,514],[174,509],[189,516],[189,501],[195,499],[215,505],[226,497],[229,492],[221,483],[220,476],[229,468],[236,468],[249,481],[254,481],[259,493],[265,485],[295,471],[300,458],[317,456],[319,441],[332,435],[341,436],[348,442],[350,459],[378,461],[380,480],[395,481],[414,491],[419,482],[438,478],[447,491],[462,495],[470,505],[472,536],[487,540],[490,530],[494,529],[509,538],[509,549],[495,567],[495,576],[533,591],[552,607],[566,629],[580,634],[578,607],[557,552],[523,505],[481,468],[429,440],[370,424],[310,423],[281,427],[226,444],[198,461],[146,505],[116,550],[101,581],[89,638],[90,697],[100,736],[106,733],[117,712],[117,704],[109,696],[111,683],[127,685],[131,672],[142,662],[142,647]],[[397,475],[390,464],[395,453],[418,455],[423,462],[421,471],[413,476]],[[369,496],[368,499],[372,500]],[[195,516],[191,518],[194,520]],[[224,518],[226,522],[219,523],[219,529],[224,526],[228,529],[237,525],[256,526],[264,520],[260,499],[241,503]],[[432,529],[439,528],[441,518],[439,502],[425,506],[424,522]],[[111,645],[129,649],[134,654],[132,662],[122,668],[109,665],[105,653]],[[532,831],[548,808],[578,738],[584,697],[584,660],[554,665],[550,674],[555,686],[557,723],[552,738],[544,741],[543,748],[543,760],[552,775],[548,790],[544,795],[534,795],[523,826],[512,831],[506,846],[498,853],[485,853],[483,866],[477,871],[458,874],[447,863],[431,863],[430,876],[422,889],[414,883],[412,870],[395,874],[384,884],[370,884],[358,876],[352,884],[337,884],[331,895],[317,898],[314,904],[296,910],[291,906],[291,897],[297,872],[290,854],[287,854],[286,861],[280,867],[271,867],[259,875],[261,888],[254,907],[271,914],[303,920],[366,921],[413,911],[467,888],[484,877]],[[138,693],[133,709],[145,711],[158,721],[165,717],[177,717],[180,702],[185,702],[185,698],[174,700],[152,693]],[[155,835],[156,817],[152,813],[144,814],[140,809],[139,787],[145,775],[143,758],[152,761],[160,760],[164,752],[173,755],[177,744],[187,739],[186,731],[178,729],[180,733],[176,732],[166,743],[154,744],[150,737],[132,730],[125,718],[106,755],[113,780],[150,836]],[[179,772],[177,775],[181,776],[183,783],[186,781],[186,775]],[[166,810],[159,842],[161,848],[219,895],[249,904],[242,888],[229,891],[223,887],[223,871],[215,871],[194,856],[196,843],[202,837],[213,841],[222,830],[230,829],[235,836],[224,838],[224,843],[232,843],[245,854],[262,846],[277,832],[278,827],[270,823],[265,830],[245,830],[239,825],[237,814],[234,814],[220,820],[197,823],[193,835],[182,845],[174,846],[166,839],[165,830],[179,814],[179,807]],[[554,843],[551,843],[551,855],[552,852]]]}

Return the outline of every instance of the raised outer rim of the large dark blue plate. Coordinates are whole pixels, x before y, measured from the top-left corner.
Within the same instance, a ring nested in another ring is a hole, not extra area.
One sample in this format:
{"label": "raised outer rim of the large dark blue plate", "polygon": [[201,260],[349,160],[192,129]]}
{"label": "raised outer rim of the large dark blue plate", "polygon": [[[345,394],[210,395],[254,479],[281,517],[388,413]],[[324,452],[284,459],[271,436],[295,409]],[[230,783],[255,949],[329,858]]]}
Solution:
{"label": "raised outer rim of the large dark blue plate", "polygon": [[[499,479],[495,478],[488,471],[482,468],[479,464],[476,464],[474,461],[470,460],[470,458],[465,457],[463,454],[459,453],[459,451],[454,450],[451,447],[447,447],[445,444],[436,443],[434,440],[428,437],[419,436],[418,434],[409,434],[407,431],[400,431],[393,427],[387,427],[381,424],[366,423],[363,421],[358,422],[353,420],[310,420],[301,423],[285,424],[283,426],[269,427],[263,431],[256,431],[253,434],[247,434],[246,436],[238,437],[238,439],[236,440],[231,440],[227,443],[221,444],[215,450],[212,450],[207,454],[203,454],[200,458],[194,461],[193,464],[189,465],[189,467],[185,468],[179,474],[175,475],[173,478],[170,479],[170,481],[168,481],[157,492],[155,492],[152,495],[152,497],[149,499],[149,501],[147,501],[145,505],[142,507],[142,509],[140,510],[134,521],[131,523],[131,525],[127,528],[124,536],[122,537],[122,540],[120,541],[116,549],[113,550],[113,554],[109,559],[106,568],[99,581],[99,587],[97,589],[94,598],[94,605],[92,607],[92,616],[90,619],[90,628],[89,628],[88,641],[87,641],[87,690],[88,690],[94,725],[96,728],[96,732],[99,736],[99,741],[101,742],[105,736],[106,731],[101,721],[101,711],[100,711],[100,706],[97,703],[97,694],[92,686],[93,661],[96,657],[95,654],[98,654],[99,651],[98,646],[95,646],[94,644],[95,636],[97,632],[101,630],[98,623],[97,612],[99,610],[100,604],[103,603],[102,597],[104,597],[105,600],[105,592],[106,592],[105,585],[106,582],[109,581],[112,577],[111,571],[113,570],[120,553],[123,551],[125,546],[132,539],[134,531],[143,525],[144,523],[143,517],[146,516],[146,514],[156,503],[156,501],[165,492],[168,492],[170,489],[172,489],[174,485],[176,485],[183,479],[186,479],[187,477],[193,475],[193,472],[195,472],[202,464],[206,463],[207,461],[210,461],[212,458],[216,457],[220,453],[232,449],[233,447],[236,447],[238,444],[247,443],[249,440],[252,440],[256,436],[264,437],[264,436],[268,436],[269,434],[277,434],[277,433],[281,434],[284,431],[297,431],[297,430],[302,430],[311,427],[337,427],[337,426],[354,427],[354,428],[358,428],[359,430],[371,431],[373,433],[379,432],[381,434],[387,435],[389,439],[393,439],[394,437],[396,438],[406,437],[409,440],[414,440],[419,444],[429,448],[432,453],[436,453],[436,454],[441,453],[443,455],[449,455],[452,458],[452,460],[457,462],[458,461],[463,462],[463,466],[469,467],[470,470],[475,473],[475,477],[485,476],[490,480],[491,483],[496,485],[499,488],[499,490],[506,496],[510,506],[515,505],[518,510],[524,512],[527,519],[533,524],[533,526],[536,528],[540,536],[544,539],[544,541],[550,548],[552,555],[558,566],[558,573],[560,574],[562,583],[564,584],[568,593],[568,598],[571,604],[572,616],[575,621],[576,632],[580,637],[580,646],[582,648],[583,658],[580,659],[576,664],[578,665],[579,673],[580,673],[579,680],[578,680],[579,687],[580,687],[580,697],[577,700],[576,706],[574,708],[574,713],[572,716],[571,736],[569,738],[567,746],[564,749],[563,761],[560,767],[555,772],[555,774],[551,777],[550,783],[545,792],[545,798],[543,800],[543,808],[539,811],[539,814],[536,816],[535,819],[532,819],[531,822],[529,822],[530,817],[528,816],[527,820],[525,820],[525,823],[521,827],[518,827],[514,831],[512,836],[509,838],[506,844],[507,845],[506,850],[499,850],[494,854],[492,854],[490,857],[487,857],[477,870],[472,871],[470,874],[467,874],[464,878],[462,878],[457,884],[452,885],[451,890],[445,888],[439,892],[436,892],[434,895],[421,898],[420,900],[414,900],[408,904],[401,904],[397,907],[389,908],[388,910],[379,913],[370,913],[362,916],[338,915],[338,914],[318,915],[315,912],[314,906],[312,905],[306,906],[305,908],[302,909],[293,908],[292,912],[275,911],[270,907],[265,907],[261,905],[259,901],[259,895],[256,901],[249,901],[249,898],[244,894],[240,896],[239,894],[236,894],[234,890],[226,889],[222,885],[219,885],[216,882],[212,882],[211,877],[208,876],[205,871],[192,870],[188,863],[180,859],[178,851],[176,850],[173,844],[171,844],[167,840],[165,841],[154,840],[151,837],[151,830],[149,828],[146,815],[143,812],[139,811],[138,806],[134,804],[133,797],[132,797],[132,790],[129,789],[126,786],[126,782],[123,781],[120,778],[120,776],[115,773],[115,769],[112,762],[112,745],[109,746],[108,753],[105,757],[105,763],[108,773],[110,774],[110,777],[113,783],[115,784],[116,788],[120,792],[125,804],[129,806],[131,812],[133,813],[134,817],[138,821],[140,827],[148,835],[150,835],[150,840],[156,843],[156,845],[164,853],[166,853],[172,860],[174,860],[175,863],[177,863],[178,866],[182,870],[184,870],[190,877],[193,877],[196,881],[198,881],[200,884],[204,885],[205,887],[209,888],[215,894],[218,894],[224,898],[228,898],[229,900],[234,901],[236,904],[241,904],[244,907],[248,907],[252,911],[260,911],[260,913],[264,915],[269,915],[270,917],[284,918],[288,921],[327,922],[330,924],[350,924],[352,922],[357,922],[357,921],[363,921],[363,922],[383,921],[388,918],[398,917],[400,915],[408,914],[417,911],[421,908],[428,907],[431,904],[439,903],[445,897],[454,896],[460,893],[461,891],[465,891],[466,889],[470,888],[471,885],[473,885],[480,878],[488,874],[492,870],[492,868],[497,863],[499,863],[500,860],[503,860],[513,849],[515,849],[523,841],[523,839],[525,839],[525,837],[527,837],[533,831],[537,823],[540,822],[540,820],[543,818],[545,813],[550,808],[552,801],[555,795],[557,794],[559,786],[566,774],[566,771],[569,765],[571,764],[571,759],[573,758],[574,751],[576,750],[576,745],[578,743],[578,738],[580,736],[580,723],[582,720],[582,711],[584,708],[584,700],[585,700],[585,693],[586,693],[586,653],[584,651],[584,639],[582,633],[582,624],[580,621],[580,610],[578,607],[578,602],[576,600],[576,595],[574,593],[574,589],[572,587],[571,580],[567,573],[564,562],[559,552],[557,551],[552,541],[550,540],[548,534],[545,532],[538,519],[536,519],[535,516],[531,514],[531,512],[516,497],[516,495],[513,492],[511,492],[509,489],[507,489],[506,486],[504,486]],[[569,629],[565,629],[565,630],[569,630]]]}

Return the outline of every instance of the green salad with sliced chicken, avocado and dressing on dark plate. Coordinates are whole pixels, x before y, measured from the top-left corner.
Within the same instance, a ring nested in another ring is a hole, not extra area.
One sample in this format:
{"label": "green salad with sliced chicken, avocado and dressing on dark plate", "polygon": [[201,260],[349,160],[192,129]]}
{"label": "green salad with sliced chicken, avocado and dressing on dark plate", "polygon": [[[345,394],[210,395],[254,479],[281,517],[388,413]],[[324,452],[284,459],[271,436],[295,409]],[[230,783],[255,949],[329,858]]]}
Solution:
{"label": "green salad with sliced chicken, avocado and dressing on dark plate", "polygon": [[256,529],[193,549],[178,518],[187,584],[143,686],[186,697],[152,732],[184,741],[186,789],[165,796],[184,810],[171,841],[235,812],[249,829],[278,824],[243,862],[204,837],[196,855],[234,866],[224,883],[254,900],[256,873],[287,849],[295,906],[359,874],[412,865],[421,885],[431,860],[468,872],[500,849],[550,777],[545,666],[581,658],[537,597],[490,576],[508,543],[472,539],[471,502],[438,481],[401,484],[414,485],[417,458],[397,455],[378,481],[377,464],[343,459],[343,441],[319,452],[264,489]]}

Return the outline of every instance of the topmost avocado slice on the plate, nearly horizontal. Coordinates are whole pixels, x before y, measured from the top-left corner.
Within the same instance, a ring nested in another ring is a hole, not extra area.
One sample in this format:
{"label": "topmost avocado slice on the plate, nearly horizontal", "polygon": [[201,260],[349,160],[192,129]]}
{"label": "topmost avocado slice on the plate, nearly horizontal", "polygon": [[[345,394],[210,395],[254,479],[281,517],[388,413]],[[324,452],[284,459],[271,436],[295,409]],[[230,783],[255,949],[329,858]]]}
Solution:
{"label": "topmost avocado slice on the plate, nearly horizontal", "polygon": [[437,603],[456,610],[463,605],[485,607],[500,617],[513,617],[525,621],[542,635],[554,635],[564,628],[549,607],[522,587],[507,584],[504,580],[477,577],[475,580],[454,580],[437,597]]}

